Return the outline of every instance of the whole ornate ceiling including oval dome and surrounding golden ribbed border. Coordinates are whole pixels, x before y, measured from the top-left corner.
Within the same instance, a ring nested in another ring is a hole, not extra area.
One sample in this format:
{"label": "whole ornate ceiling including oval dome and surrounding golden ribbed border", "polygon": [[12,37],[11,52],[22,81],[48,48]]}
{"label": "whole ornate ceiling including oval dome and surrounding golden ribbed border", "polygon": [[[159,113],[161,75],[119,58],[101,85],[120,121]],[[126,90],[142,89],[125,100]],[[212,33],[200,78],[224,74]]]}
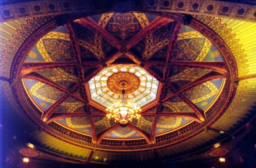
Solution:
{"label": "whole ornate ceiling including oval dome and surrounding golden ribbed border", "polygon": [[[175,158],[232,136],[252,116],[255,24],[192,15],[186,25],[184,16],[100,12],[1,23],[1,87],[22,120],[42,128],[29,143],[113,164]],[[120,99],[124,78],[126,98],[142,111],[120,127],[105,109]]]}

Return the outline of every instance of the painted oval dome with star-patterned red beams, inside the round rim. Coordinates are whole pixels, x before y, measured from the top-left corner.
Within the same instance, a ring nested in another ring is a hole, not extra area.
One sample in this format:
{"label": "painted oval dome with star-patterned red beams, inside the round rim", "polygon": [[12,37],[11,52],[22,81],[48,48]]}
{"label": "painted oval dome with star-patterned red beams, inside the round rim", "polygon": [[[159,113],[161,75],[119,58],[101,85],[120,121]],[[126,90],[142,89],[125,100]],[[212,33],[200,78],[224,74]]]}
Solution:
{"label": "painted oval dome with star-patterned red beams, inside the round rim", "polygon": [[[144,13],[106,13],[45,34],[28,52],[20,73],[44,122],[98,144],[151,144],[204,122],[228,72],[216,46],[191,27]],[[104,111],[120,99],[121,93],[111,91],[116,73],[139,79],[131,80],[135,88],[126,97],[142,108],[142,117],[125,128]]]}

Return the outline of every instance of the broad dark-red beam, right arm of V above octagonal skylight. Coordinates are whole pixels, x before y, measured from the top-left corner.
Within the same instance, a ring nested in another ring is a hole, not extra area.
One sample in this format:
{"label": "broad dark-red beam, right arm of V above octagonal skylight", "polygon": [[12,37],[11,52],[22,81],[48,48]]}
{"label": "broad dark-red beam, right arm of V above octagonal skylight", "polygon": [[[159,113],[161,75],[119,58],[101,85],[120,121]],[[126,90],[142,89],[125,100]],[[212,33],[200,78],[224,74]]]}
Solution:
{"label": "broad dark-red beam, right arm of V above octagonal skylight", "polygon": [[163,27],[166,24],[169,24],[170,22],[173,22],[173,20],[170,18],[164,18],[164,17],[155,18],[150,24],[148,24],[147,27],[145,27],[145,29],[142,29],[140,32],[138,32],[126,43],[125,45],[126,50],[129,50],[130,48],[132,48],[132,46],[136,45],[148,34],[156,31],[157,29],[159,29],[160,27]]}

